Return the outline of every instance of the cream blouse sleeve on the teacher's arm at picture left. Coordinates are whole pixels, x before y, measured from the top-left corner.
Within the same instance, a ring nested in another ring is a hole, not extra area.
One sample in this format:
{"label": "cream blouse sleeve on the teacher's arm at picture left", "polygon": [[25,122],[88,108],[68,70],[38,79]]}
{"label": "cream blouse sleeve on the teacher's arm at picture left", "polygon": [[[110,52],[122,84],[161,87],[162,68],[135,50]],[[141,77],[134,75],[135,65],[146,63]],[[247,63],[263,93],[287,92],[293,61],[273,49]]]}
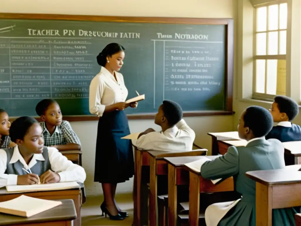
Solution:
{"label": "cream blouse sleeve on the teacher's arm at picture left", "polygon": [[106,109],[105,105],[101,104],[101,98],[104,94],[104,83],[101,82],[100,76],[92,79],[89,88],[89,111],[93,115],[102,116]]}

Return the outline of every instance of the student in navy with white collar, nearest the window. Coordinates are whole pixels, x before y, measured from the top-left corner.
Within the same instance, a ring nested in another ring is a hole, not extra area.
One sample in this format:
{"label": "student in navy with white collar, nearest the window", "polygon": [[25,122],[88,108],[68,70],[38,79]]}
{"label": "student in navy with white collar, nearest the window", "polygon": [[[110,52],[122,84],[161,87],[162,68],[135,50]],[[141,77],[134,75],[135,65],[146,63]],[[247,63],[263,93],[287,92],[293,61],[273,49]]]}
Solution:
{"label": "student in navy with white collar, nearest the window", "polygon": [[274,122],[278,122],[265,136],[265,139],[278,139],[281,142],[301,140],[301,127],[291,123],[299,113],[299,105],[287,96],[275,96],[270,112]]}

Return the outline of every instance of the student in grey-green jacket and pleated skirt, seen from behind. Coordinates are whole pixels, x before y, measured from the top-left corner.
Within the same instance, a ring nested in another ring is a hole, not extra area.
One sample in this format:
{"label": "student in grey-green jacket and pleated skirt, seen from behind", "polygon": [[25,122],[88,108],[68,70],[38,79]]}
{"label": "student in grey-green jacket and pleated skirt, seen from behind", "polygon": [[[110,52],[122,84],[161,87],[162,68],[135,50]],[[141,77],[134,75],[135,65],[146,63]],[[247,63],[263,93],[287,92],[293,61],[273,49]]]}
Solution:
{"label": "student in grey-green jacket and pleated skirt, seen from behind", "polygon": [[[250,106],[242,114],[237,127],[239,137],[247,140],[247,146],[228,148],[228,152],[213,161],[204,162],[201,176],[210,179],[226,179],[233,176],[235,190],[241,199],[214,203],[207,207],[207,226],[250,225],[255,226],[256,182],[246,177],[247,171],[281,169],[284,164],[284,146],[276,139],[265,140],[273,127],[272,115],[265,108]],[[273,209],[273,225],[294,224],[294,214],[300,208]]]}

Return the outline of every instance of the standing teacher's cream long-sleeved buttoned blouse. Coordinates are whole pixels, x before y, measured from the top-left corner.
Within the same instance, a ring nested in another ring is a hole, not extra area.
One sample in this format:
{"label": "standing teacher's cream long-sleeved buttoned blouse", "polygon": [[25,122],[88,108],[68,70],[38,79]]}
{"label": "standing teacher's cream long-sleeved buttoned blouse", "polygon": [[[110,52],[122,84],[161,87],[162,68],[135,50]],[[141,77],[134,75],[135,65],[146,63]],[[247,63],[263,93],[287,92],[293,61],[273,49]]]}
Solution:
{"label": "standing teacher's cream long-sleeved buttoned blouse", "polygon": [[108,105],[125,102],[128,96],[122,74],[114,71],[114,76],[105,68],[92,79],[89,89],[89,111],[93,115],[101,117]]}

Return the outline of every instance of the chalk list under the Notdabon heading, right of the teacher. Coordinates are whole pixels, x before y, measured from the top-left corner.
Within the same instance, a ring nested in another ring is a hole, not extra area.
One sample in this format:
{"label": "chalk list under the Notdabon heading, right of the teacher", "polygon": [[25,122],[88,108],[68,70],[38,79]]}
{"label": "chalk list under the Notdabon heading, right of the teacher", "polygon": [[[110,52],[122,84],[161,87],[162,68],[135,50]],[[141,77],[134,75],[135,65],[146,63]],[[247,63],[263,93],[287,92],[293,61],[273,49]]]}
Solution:
{"label": "chalk list under the Notdabon heading, right of the teacher", "polygon": [[222,44],[165,41],[165,91],[210,92],[221,86],[216,68],[222,59],[216,46]]}

